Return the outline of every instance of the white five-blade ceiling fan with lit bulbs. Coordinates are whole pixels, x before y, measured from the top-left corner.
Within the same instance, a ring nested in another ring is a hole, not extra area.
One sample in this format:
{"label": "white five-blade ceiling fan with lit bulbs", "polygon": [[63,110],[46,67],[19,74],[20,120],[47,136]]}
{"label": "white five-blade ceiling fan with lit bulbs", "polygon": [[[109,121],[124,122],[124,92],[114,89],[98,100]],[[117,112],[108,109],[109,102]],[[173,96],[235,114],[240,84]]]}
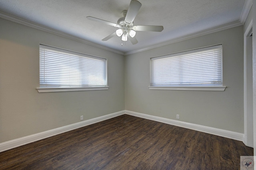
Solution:
{"label": "white five-blade ceiling fan with lit bulbs", "polygon": [[110,38],[117,35],[118,37],[122,36],[122,41],[127,41],[129,39],[132,44],[138,43],[138,40],[136,39],[136,31],[157,31],[161,32],[164,27],[158,26],[158,25],[134,25],[133,20],[138,14],[138,11],[140,10],[141,3],[137,0],[132,0],[130,2],[130,6],[128,10],[122,11],[122,18],[119,18],[117,20],[117,23],[112,23],[109,21],[101,20],[99,18],[94,18],[91,16],[86,17],[88,20],[92,21],[98,21],[107,25],[112,25],[114,27],[117,27],[119,29],[116,30],[116,32],[108,35],[102,41],[107,41]]}

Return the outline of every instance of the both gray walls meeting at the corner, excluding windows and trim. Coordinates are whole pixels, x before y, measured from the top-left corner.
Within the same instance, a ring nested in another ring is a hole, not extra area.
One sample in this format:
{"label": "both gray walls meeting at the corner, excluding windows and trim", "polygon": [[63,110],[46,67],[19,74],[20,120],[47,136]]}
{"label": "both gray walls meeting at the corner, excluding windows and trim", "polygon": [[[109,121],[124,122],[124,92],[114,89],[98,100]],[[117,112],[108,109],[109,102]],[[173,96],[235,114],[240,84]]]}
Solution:
{"label": "both gray walls meeting at the corner, excluding windows and trim", "polygon": [[[109,90],[38,93],[40,43],[107,58]],[[220,43],[224,92],[148,89],[150,57]],[[0,143],[124,109],[244,133],[243,26],[124,57],[0,19]]]}

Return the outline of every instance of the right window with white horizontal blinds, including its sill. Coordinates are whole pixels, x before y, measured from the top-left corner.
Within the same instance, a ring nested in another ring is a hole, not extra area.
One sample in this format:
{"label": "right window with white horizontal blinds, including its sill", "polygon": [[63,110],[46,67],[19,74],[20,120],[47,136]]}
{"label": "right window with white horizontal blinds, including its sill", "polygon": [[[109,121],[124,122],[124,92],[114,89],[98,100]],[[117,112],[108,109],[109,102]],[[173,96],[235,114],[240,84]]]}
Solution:
{"label": "right window with white horizontal blinds, including its sill", "polygon": [[222,45],[150,59],[150,89],[225,90]]}

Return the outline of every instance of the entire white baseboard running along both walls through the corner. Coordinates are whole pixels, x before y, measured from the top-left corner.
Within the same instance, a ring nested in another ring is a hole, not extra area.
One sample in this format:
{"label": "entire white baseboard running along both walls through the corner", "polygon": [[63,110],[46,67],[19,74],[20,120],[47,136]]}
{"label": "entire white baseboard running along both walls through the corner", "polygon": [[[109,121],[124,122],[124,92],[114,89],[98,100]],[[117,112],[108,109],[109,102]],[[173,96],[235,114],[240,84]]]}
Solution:
{"label": "entire white baseboard running along both walls through the corner", "polygon": [[218,136],[221,136],[221,137],[226,137],[226,138],[234,139],[234,140],[237,140],[237,141],[243,141],[244,140],[244,134],[242,134],[242,133],[227,131],[227,130],[223,130],[223,129],[217,129],[217,128],[208,127],[208,126],[196,125],[196,124],[193,124],[193,123],[187,123],[187,122],[183,122],[183,121],[177,121],[177,120],[167,119],[167,118],[163,118],[163,117],[147,115],[147,114],[143,114],[143,113],[137,113],[137,112],[134,112],[134,111],[123,110],[123,111],[118,111],[116,113],[111,113],[111,114],[108,114],[108,115],[104,115],[104,116],[96,117],[96,118],[93,118],[93,119],[89,119],[89,120],[81,121],[81,122],[78,122],[78,123],[74,123],[74,124],[71,124],[71,125],[59,127],[59,128],[52,129],[52,130],[49,130],[49,131],[44,131],[44,132],[41,132],[41,133],[36,133],[34,135],[29,135],[29,136],[26,136],[26,137],[22,137],[22,138],[14,139],[14,140],[7,141],[7,142],[4,142],[4,143],[0,143],[0,152],[3,152],[5,150],[9,150],[9,149],[12,149],[12,148],[16,148],[16,147],[19,147],[19,146],[22,146],[22,145],[26,145],[28,143],[32,143],[32,142],[35,142],[35,141],[39,141],[41,139],[52,137],[52,136],[58,135],[60,133],[64,133],[64,132],[67,132],[67,131],[78,129],[80,127],[91,125],[93,123],[97,123],[97,122],[100,122],[100,121],[111,119],[113,117],[123,115],[123,114],[132,115],[132,116],[136,116],[136,117],[141,117],[141,118],[144,118],[144,119],[158,121],[158,122],[162,122],[162,123],[166,123],[166,124],[170,124],[170,125],[175,125],[175,126],[179,126],[179,127],[184,127],[184,128],[187,128],[187,129],[192,129],[192,130],[196,130],[196,131],[200,131],[200,132],[204,132],[204,133],[209,133],[209,134],[212,134],[212,135],[218,135]]}

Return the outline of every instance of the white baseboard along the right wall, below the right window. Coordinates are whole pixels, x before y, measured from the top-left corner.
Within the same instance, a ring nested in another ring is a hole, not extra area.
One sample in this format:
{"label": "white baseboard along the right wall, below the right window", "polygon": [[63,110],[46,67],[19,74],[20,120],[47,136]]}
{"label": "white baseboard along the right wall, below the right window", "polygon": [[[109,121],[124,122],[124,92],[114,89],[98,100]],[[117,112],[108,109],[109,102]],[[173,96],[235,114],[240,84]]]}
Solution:
{"label": "white baseboard along the right wall, below the right window", "polygon": [[137,112],[134,112],[134,111],[125,110],[125,113],[128,114],[128,115],[141,117],[141,118],[144,118],[144,119],[149,119],[149,120],[158,121],[158,122],[162,122],[162,123],[166,123],[166,124],[170,124],[170,125],[184,127],[184,128],[187,128],[187,129],[192,129],[192,130],[196,130],[196,131],[200,131],[200,132],[204,132],[204,133],[209,133],[209,134],[212,134],[212,135],[218,135],[218,136],[221,136],[221,137],[226,137],[226,138],[234,139],[234,140],[237,140],[237,141],[244,141],[244,134],[243,133],[237,133],[237,132],[233,132],[233,131],[217,129],[217,128],[214,128],[214,127],[208,127],[208,126],[203,126],[203,125],[196,125],[196,124],[193,124],[193,123],[187,123],[187,122],[183,122],[183,121],[166,119],[166,118],[163,118],[163,117],[147,115],[147,114],[143,114],[143,113],[137,113]]}

